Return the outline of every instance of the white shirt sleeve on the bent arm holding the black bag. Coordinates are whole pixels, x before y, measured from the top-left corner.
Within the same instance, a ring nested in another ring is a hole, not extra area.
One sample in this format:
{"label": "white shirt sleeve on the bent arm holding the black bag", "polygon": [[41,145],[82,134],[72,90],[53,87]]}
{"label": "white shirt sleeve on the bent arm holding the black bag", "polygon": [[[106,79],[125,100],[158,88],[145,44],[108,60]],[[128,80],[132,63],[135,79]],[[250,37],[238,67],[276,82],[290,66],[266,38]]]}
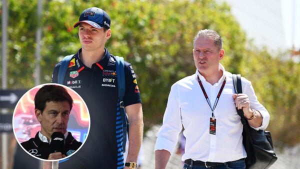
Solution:
{"label": "white shirt sleeve on the bent arm holding the black bag", "polygon": [[248,98],[250,100],[250,108],[255,109],[260,112],[262,116],[262,125],[254,128],[256,130],[258,129],[265,129],[269,123],[270,115],[269,112],[265,109],[265,107],[257,100],[257,97],[255,95],[253,86],[251,82],[244,77],[241,78],[242,81],[242,91],[243,93],[248,95]]}

